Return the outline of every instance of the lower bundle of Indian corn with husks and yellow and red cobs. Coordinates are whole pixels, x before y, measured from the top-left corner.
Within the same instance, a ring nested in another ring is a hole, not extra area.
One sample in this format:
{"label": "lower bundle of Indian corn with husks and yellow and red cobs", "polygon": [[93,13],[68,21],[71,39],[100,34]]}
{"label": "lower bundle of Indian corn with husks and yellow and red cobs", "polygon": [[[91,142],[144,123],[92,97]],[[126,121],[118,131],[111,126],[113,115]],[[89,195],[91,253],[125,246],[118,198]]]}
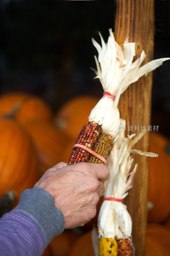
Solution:
{"label": "lower bundle of Indian corn with husks and yellow and red cobs", "polygon": [[[125,121],[120,121],[125,125]],[[137,169],[137,164],[133,169],[131,168],[133,164],[131,154],[158,156],[151,152],[132,149],[144,133],[145,131],[142,131],[137,136],[132,134],[125,137],[124,132],[120,132],[111,155],[108,157],[107,165],[110,176],[104,184],[104,199],[106,200],[101,205],[98,217],[99,236],[94,230],[92,232],[96,256],[132,256],[134,254],[131,238],[132,220],[122,200],[128,195],[127,191],[132,187],[133,177]]]}

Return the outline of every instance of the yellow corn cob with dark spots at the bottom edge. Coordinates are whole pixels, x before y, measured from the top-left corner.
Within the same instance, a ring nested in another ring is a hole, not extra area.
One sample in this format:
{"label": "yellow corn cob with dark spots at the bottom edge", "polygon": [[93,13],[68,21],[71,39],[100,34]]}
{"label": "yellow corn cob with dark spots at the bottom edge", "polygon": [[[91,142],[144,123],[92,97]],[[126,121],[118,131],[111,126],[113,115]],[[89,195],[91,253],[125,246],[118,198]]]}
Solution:
{"label": "yellow corn cob with dark spots at the bottom edge", "polygon": [[117,256],[117,242],[115,238],[100,237],[99,256]]}

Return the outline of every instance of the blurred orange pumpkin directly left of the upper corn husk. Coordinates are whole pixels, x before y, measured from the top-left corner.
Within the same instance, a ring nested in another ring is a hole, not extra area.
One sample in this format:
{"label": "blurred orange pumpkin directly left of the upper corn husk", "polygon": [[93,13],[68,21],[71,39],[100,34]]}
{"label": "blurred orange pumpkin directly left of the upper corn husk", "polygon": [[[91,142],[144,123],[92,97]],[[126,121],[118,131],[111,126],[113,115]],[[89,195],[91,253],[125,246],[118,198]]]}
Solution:
{"label": "blurred orange pumpkin directly left of the upper corn husk", "polygon": [[55,115],[56,127],[66,132],[70,138],[77,139],[97,102],[98,99],[89,96],[79,96],[68,101]]}

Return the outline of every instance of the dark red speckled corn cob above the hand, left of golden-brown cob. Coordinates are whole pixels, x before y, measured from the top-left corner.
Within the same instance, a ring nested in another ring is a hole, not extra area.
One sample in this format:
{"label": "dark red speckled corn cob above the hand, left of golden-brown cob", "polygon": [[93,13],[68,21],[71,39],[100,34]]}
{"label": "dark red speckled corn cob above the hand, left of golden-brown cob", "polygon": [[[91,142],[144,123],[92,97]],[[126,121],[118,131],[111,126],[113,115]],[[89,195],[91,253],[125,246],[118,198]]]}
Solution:
{"label": "dark red speckled corn cob above the hand, left of golden-brown cob", "polygon": [[[83,126],[78,136],[78,139],[76,140],[76,144],[84,145],[85,147],[93,150],[97,140],[99,139],[100,132],[101,125],[94,122],[88,122]],[[71,152],[69,164],[87,162],[89,156],[90,153],[87,152],[85,149],[74,147]]]}

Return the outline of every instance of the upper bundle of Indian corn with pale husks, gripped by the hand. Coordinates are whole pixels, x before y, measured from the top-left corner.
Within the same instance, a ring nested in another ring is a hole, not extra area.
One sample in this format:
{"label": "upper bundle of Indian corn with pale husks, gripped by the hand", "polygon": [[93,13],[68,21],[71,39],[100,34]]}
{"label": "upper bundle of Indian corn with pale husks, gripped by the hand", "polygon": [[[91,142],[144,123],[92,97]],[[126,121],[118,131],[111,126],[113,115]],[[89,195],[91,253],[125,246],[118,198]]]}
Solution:
{"label": "upper bundle of Indian corn with pale husks, gripped by the hand", "polygon": [[[73,146],[68,164],[76,164],[78,162],[106,164],[107,157],[119,135],[121,119],[117,106],[120,95],[130,84],[136,82],[141,76],[159,67],[163,61],[169,60],[169,58],[153,60],[140,67],[145,58],[144,51],[142,51],[140,58],[133,62],[135,43],[129,43],[127,39],[123,44],[122,50],[116,43],[111,29],[109,33],[107,44],[99,33],[102,46],[92,39],[92,43],[99,54],[98,58],[96,56],[94,57],[97,66],[95,78],[100,79],[104,95],[92,109],[89,122],[83,126]],[[128,139],[130,139],[130,137],[128,137]],[[118,141],[120,141],[120,139]],[[123,143],[122,150],[124,146]],[[137,152],[139,153],[139,151],[136,151],[136,153]],[[114,154],[111,155],[112,158]],[[128,163],[131,163],[130,160]],[[135,171],[132,173],[134,172]],[[112,222],[113,221],[115,220],[112,220]],[[115,238],[115,236],[112,236],[112,238]],[[112,244],[110,244],[110,246],[113,247]],[[122,246],[124,245],[122,244]],[[107,255],[104,252],[102,253],[101,255]],[[117,254],[111,254],[110,250],[108,255]]]}

